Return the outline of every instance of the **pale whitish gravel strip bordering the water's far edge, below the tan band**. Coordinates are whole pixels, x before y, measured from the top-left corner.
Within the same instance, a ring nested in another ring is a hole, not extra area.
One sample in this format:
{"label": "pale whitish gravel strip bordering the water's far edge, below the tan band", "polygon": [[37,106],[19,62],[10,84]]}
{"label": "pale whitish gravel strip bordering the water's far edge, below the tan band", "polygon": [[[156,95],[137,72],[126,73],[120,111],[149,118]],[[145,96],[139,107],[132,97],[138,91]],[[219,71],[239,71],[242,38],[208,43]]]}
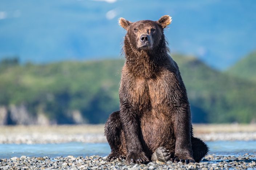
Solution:
{"label": "pale whitish gravel strip bordering the water's far edge, below the tan band", "polygon": [[[196,134],[204,141],[252,141],[256,140],[256,132],[208,133]],[[49,143],[106,143],[103,133],[6,133],[0,134],[0,144],[49,144]]]}

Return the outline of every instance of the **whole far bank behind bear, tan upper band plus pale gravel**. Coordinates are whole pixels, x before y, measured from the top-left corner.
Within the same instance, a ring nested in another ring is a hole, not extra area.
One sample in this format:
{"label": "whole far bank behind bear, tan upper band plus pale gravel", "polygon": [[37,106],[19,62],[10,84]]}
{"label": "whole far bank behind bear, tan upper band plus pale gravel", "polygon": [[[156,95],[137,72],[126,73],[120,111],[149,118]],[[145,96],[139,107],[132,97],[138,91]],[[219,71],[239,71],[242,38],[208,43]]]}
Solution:
{"label": "whole far bank behind bear, tan upper band plus pale gravel", "polygon": [[[194,124],[204,141],[256,140],[256,124]],[[104,125],[0,126],[0,144],[106,143]]]}

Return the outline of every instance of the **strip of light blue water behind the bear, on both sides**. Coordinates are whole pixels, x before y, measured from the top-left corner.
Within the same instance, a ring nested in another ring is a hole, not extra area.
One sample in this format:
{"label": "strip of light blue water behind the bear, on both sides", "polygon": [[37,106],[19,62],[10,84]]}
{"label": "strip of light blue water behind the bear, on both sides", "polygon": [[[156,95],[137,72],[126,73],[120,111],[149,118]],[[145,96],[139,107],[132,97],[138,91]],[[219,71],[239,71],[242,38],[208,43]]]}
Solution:
{"label": "strip of light blue water behind the bear, on both sides", "polygon": [[[256,154],[256,141],[212,141],[207,142],[210,154],[239,156],[245,153]],[[110,153],[107,143],[61,143],[61,144],[0,144],[0,158],[57,157],[57,156],[106,156]]]}

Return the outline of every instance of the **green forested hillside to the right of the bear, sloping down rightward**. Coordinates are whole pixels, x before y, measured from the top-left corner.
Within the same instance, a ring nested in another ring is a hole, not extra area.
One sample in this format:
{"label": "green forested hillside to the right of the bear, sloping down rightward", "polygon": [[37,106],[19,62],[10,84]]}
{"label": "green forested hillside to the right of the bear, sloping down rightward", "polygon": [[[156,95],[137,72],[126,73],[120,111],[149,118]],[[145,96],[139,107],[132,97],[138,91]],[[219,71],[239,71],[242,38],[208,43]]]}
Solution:
{"label": "green forested hillside to the right of the bear, sloping down rightward", "polygon": [[[194,122],[256,120],[256,85],[209,68],[195,58],[174,56],[187,87]],[[201,121],[204,120],[204,121]]]}

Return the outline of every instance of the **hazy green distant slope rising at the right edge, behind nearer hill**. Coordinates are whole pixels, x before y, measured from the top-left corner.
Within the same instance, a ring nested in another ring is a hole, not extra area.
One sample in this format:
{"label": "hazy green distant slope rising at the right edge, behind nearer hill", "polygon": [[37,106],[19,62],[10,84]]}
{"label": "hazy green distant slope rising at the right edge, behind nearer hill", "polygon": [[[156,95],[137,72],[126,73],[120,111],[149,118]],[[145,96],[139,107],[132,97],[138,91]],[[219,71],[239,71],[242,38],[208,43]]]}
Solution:
{"label": "hazy green distant slope rising at the right edge, behind nearer hill", "polygon": [[234,75],[256,82],[256,51],[245,56],[235,65],[227,70],[230,75]]}

